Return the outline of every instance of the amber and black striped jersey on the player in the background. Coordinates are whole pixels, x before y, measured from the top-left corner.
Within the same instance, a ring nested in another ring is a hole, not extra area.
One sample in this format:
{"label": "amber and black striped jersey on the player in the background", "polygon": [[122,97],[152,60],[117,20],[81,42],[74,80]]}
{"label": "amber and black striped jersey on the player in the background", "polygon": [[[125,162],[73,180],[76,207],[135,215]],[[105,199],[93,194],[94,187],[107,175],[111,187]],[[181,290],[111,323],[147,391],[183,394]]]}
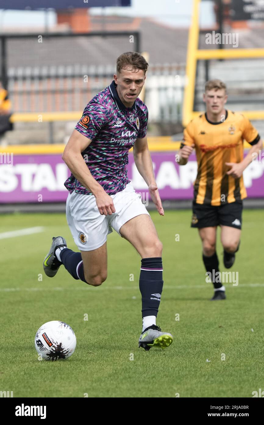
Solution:
{"label": "amber and black striped jersey on the player in the background", "polygon": [[253,145],[258,143],[260,136],[241,113],[226,111],[225,120],[221,122],[211,122],[203,113],[189,122],[183,132],[181,148],[195,144],[194,200],[197,204],[217,206],[247,197],[243,176],[228,176],[226,173],[230,167],[225,165],[225,162],[243,160],[243,139]]}

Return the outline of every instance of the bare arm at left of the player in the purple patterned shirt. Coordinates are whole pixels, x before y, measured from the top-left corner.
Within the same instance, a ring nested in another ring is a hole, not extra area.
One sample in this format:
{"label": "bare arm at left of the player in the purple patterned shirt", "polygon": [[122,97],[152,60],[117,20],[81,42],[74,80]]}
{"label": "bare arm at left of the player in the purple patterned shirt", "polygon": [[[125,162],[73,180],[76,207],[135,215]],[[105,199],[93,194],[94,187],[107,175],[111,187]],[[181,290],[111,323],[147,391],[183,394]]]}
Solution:
{"label": "bare arm at left of the player in the purple patterned shirt", "polygon": [[115,212],[113,199],[92,176],[81,155],[91,142],[91,139],[88,139],[74,129],[65,146],[62,159],[67,164],[73,176],[95,196],[100,214],[111,215],[112,212]]}

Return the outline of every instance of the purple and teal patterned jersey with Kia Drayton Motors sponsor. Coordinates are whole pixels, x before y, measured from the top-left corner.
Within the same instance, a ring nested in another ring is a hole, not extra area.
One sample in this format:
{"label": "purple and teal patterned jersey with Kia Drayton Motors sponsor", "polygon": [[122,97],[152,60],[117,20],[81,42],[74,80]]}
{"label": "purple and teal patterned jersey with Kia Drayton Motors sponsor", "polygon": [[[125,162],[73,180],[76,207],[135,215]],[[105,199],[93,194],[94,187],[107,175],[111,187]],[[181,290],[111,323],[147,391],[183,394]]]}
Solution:
{"label": "purple and teal patterned jersey with Kia Drayton Motors sponsor", "polygon": [[[148,111],[137,98],[131,108],[121,102],[114,81],[86,105],[83,116],[75,126],[83,136],[92,140],[82,152],[92,176],[109,195],[125,189],[128,151],[136,139],[147,132]],[[65,187],[72,193],[92,193],[71,174]]]}

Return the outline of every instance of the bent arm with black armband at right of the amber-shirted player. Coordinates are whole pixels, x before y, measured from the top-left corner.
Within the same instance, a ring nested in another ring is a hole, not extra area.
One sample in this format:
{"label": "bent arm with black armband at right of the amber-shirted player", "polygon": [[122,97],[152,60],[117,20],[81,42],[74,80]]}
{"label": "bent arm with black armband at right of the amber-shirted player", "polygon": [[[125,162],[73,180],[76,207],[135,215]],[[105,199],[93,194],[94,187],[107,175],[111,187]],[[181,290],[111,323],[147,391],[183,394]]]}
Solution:
{"label": "bent arm with black armband at right of the amber-shirted player", "polygon": [[228,165],[231,167],[231,169],[227,172],[228,175],[232,176],[233,178],[239,178],[242,176],[243,171],[245,168],[256,158],[256,154],[258,154],[259,151],[262,150],[263,147],[263,141],[261,140],[258,131],[256,128],[253,127],[249,119],[246,117],[244,118],[244,130],[242,133],[242,137],[246,139],[246,141],[251,144],[251,148],[248,151],[245,158],[239,162],[226,162],[225,165]]}

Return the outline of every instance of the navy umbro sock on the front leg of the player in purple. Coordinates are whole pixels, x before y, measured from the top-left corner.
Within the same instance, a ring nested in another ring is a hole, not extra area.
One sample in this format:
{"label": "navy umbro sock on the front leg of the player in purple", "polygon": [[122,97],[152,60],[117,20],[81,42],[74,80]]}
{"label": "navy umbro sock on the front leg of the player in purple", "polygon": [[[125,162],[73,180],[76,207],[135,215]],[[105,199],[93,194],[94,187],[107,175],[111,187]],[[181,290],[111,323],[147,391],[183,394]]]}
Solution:
{"label": "navy umbro sock on the front leg of the player in purple", "polygon": [[157,317],[162,287],[162,258],[142,258],[139,276],[139,289],[142,295],[142,317]]}

